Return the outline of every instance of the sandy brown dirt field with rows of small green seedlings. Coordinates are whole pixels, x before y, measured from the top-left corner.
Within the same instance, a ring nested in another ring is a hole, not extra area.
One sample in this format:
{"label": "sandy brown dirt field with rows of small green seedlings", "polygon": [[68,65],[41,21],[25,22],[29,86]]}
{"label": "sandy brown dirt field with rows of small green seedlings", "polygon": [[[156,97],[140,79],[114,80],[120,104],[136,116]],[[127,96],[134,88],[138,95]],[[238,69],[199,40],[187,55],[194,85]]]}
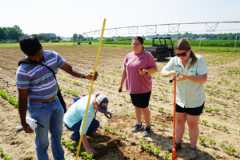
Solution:
{"label": "sandy brown dirt field with rows of small green seedlings", "polygon": [[[74,65],[88,72],[95,60],[95,47],[51,46]],[[154,76],[150,108],[154,134],[144,139],[142,134],[132,134],[135,123],[134,108],[127,92],[118,93],[121,63],[126,48],[105,48],[102,54],[96,91],[109,96],[113,119],[99,115],[101,129],[93,141],[101,150],[99,160],[157,160],[170,159],[171,148],[171,85],[159,73]],[[209,80],[205,85],[207,95],[205,113],[201,117],[198,157],[189,154],[189,138],[185,133],[184,149],[178,159],[237,160],[240,159],[240,53],[203,53],[209,66]],[[0,89],[16,96],[15,72],[22,57],[18,48],[0,48]],[[164,63],[158,63],[159,69]],[[72,97],[87,94],[87,81],[73,78],[60,71],[58,79],[67,102]],[[9,155],[14,160],[34,158],[34,136],[16,133],[19,123],[17,109],[0,98],[0,159]],[[75,151],[69,132],[63,136],[66,159]]]}

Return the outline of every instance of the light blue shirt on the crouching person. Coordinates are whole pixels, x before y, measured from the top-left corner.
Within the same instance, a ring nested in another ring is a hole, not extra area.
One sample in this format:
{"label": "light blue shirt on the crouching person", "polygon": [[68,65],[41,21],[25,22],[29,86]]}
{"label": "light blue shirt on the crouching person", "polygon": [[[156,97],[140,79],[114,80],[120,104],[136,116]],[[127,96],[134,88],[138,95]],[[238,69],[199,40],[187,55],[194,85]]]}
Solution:
{"label": "light blue shirt on the crouching person", "polygon": [[[87,133],[87,130],[90,124],[92,123],[93,119],[96,116],[94,111],[94,106],[93,106],[94,98],[95,96],[91,96],[90,105],[88,108],[86,126],[83,130],[83,134]],[[84,96],[78,101],[76,101],[75,103],[73,103],[70,108],[68,108],[67,112],[64,115],[63,121],[69,128],[72,128],[74,124],[78,123],[83,119],[86,106],[87,106],[87,100],[88,100],[88,96]]]}

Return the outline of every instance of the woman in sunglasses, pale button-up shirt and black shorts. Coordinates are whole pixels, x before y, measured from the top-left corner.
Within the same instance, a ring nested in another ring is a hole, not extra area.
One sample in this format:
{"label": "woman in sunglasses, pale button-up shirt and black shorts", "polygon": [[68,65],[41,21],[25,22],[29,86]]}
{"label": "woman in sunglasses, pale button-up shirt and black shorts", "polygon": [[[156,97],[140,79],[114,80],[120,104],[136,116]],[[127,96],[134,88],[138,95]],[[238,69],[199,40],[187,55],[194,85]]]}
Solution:
{"label": "woman in sunglasses, pale button-up shirt and black shorts", "polygon": [[162,69],[162,76],[176,77],[176,149],[181,149],[182,138],[187,122],[191,149],[196,151],[201,115],[205,94],[203,84],[207,81],[207,64],[204,58],[196,55],[186,39],[176,45],[176,56]]}

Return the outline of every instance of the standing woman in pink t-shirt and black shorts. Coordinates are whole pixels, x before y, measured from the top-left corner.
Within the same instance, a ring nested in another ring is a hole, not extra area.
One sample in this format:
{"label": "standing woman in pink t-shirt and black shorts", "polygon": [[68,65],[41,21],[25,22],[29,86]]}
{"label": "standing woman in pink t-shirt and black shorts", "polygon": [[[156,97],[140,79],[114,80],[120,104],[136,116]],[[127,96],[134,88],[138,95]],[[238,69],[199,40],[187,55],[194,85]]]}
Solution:
{"label": "standing woman in pink t-shirt and black shorts", "polygon": [[[132,40],[133,51],[124,58],[119,92],[122,91],[125,82],[135,107],[137,119],[133,132],[144,130],[144,136],[149,136],[151,134],[151,114],[148,105],[152,90],[152,74],[157,71],[157,65],[152,54],[144,51],[143,43],[142,37],[135,37]],[[142,125],[142,116],[146,123],[145,127]]]}

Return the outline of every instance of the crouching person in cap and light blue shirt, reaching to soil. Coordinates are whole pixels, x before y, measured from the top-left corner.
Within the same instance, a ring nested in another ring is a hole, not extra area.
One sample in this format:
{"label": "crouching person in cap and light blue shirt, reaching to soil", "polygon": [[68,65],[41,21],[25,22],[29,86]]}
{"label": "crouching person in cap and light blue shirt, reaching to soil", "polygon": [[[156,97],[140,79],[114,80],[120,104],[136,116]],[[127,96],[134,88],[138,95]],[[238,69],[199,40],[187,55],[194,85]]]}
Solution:
{"label": "crouching person in cap and light blue shirt, reaching to soil", "polygon": [[[64,115],[63,121],[65,126],[73,132],[71,139],[76,142],[80,139],[80,128],[86,111],[87,101],[88,96],[79,98],[69,107],[68,111]],[[96,154],[95,149],[91,147],[87,140],[87,136],[94,135],[100,126],[99,121],[96,119],[96,113],[99,111],[104,113],[104,115],[108,118],[111,118],[111,113],[107,111],[107,106],[108,98],[105,95],[94,94],[91,96],[86,125],[83,129],[83,146],[88,153]]]}

